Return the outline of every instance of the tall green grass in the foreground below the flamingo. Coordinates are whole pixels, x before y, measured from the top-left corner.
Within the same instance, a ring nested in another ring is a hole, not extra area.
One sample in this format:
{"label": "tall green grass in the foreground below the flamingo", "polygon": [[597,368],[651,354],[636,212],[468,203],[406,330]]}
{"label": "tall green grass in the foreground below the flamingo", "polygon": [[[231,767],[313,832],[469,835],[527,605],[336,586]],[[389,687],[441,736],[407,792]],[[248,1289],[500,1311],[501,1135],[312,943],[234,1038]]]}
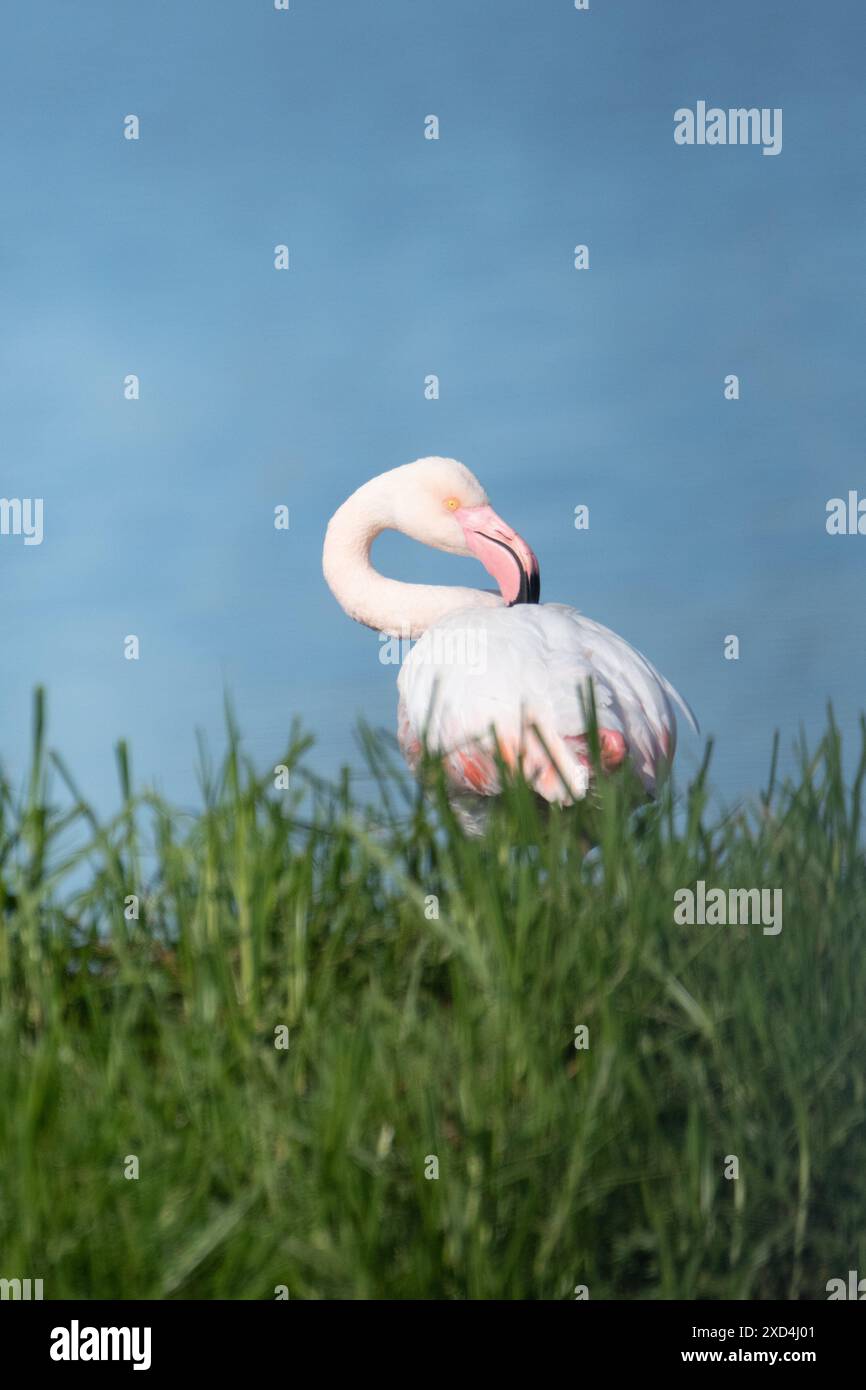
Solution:
{"label": "tall green grass in the foreground below the flamingo", "polygon": [[[845,787],[830,721],[720,823],[706,766],[637,815],[619,776],[544,817],[514,784],[468,840],[382,739],[373,810],[302,738],[277,791],[228,734],[196,813],[121,746],[100,823],[38,696],[29,783],[0,783],[0,1277],[824,1298],[866,1272],[866,745]],[[676,926],[698,878],[781,887],[781,934]]]}

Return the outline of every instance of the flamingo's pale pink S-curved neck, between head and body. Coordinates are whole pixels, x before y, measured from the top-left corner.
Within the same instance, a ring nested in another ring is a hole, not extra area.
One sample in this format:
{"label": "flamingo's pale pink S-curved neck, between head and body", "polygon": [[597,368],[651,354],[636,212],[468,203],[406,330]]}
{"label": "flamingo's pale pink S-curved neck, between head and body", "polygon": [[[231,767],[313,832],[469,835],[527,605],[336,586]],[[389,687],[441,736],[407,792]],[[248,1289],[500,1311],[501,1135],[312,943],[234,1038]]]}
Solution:
{"label": "flamingo's pale pink S-curved neck, between head and body", "polygon": [[502,607],[502,598],[485,589],[403,584],[373,567],[370,549],[377,535],[399,530],[378,482],[373,478],[353,492],[331,517],[325,535],[324,575],[349,617],[388,637],[416,638],[457,609]]}

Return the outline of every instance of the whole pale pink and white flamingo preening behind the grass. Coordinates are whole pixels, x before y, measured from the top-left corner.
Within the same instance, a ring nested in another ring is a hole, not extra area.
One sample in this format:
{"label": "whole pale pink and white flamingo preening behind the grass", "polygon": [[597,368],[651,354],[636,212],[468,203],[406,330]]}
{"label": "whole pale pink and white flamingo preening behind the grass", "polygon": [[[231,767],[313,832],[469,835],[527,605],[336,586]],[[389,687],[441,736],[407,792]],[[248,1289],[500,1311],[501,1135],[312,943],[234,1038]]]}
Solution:
{"label": "whole pale pink and white flamingo preening behind the grass", "polygon": [[[499,592],[386,578],[370,560],[384,530],[475,556]],[[399,745],[413,771],[424,746],[441,758],[456,802],[496,795],[502,764],[548,802],[585,798],[588,682],[602,770],[630,760],[651,795],[674,756],[674,705],[696,731],[681,695],[624,638],[539,602],[532,550],[456,459],[417,459],[353,492],[328,524],[322,570],[357,623],[414,639],[398,677]]]}

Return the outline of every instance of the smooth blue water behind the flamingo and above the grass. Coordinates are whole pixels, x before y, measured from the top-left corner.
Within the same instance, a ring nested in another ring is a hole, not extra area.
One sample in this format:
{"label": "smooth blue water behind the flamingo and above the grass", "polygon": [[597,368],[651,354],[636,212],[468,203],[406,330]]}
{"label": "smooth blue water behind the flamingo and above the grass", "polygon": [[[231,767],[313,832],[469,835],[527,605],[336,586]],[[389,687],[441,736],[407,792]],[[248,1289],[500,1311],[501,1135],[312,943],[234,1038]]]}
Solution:
{"label": "smooth blue water behind the flamingo and above the grass", "polygon": [[[828,698],[849,733],[866,537],[824,521],[866,495],[865,40],[855,0],[19,8],[0,495],[44,499],[44,541],[0,537],[11,771],[36,682],[103,809],[118,737],[138,780],[195,801],[225,692],[263,766],[295,714],[320,770],[357,760],[359,713],[393,728],[396,673],[325,588],[321,541],[357,485],[428,453],[478,474],[544,598],[683,691],[724,802]],[[698,100],[781,107],[781,154],[676,146]],[[487,584],[395,537],[375,559]],[[699,752],[687,735],[685,770]]]}

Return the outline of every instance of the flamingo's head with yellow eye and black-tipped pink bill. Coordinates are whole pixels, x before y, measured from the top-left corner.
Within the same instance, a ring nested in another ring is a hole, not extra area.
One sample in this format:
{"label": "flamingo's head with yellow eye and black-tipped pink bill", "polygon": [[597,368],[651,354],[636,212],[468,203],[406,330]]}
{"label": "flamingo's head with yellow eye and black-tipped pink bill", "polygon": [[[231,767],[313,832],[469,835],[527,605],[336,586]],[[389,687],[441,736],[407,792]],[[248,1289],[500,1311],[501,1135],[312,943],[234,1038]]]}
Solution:
{"label": "flamingo's head with yellow eye and black-tipped pink bill", "polygon": [[[396,530],[449,555],[473,555],[507,605],[538,603],[541,574],[527,542],[493,512],[475,475],[456,459],[417,459],[395,468]],[[409,478],[411,477],[411,485]]]}

